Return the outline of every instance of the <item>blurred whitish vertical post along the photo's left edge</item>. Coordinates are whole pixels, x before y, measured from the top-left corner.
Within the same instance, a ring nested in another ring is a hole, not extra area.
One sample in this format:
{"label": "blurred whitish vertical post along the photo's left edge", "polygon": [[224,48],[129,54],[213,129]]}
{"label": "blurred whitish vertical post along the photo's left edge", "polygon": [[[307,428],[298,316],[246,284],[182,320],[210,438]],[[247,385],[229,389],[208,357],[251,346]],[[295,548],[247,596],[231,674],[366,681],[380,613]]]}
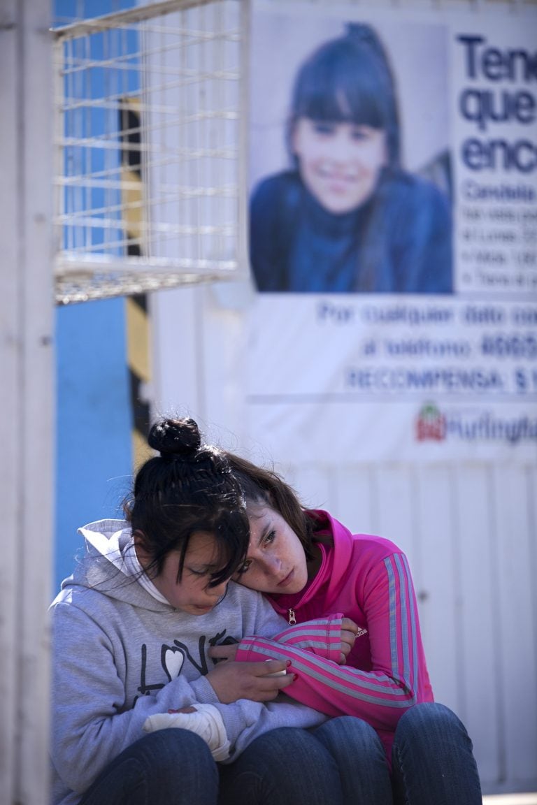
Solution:
{"label": "blurred whitish vertical post along the photo's left edge", "polygon": [[0,3],[0,801],[49,800],[54,494],[49,0]]}

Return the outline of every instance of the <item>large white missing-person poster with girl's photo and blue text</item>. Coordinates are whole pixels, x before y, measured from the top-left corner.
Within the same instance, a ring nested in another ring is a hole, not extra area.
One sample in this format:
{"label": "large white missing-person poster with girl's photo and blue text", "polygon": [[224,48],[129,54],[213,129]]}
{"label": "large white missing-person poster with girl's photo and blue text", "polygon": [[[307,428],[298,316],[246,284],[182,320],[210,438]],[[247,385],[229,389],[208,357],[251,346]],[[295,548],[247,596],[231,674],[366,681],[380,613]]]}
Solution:
{"label": "large white missing-person poster with girl's photo and blue text", "polygon": [[279,460],[535,460],[537,13],[480,11],[252,5],[247,407]]}

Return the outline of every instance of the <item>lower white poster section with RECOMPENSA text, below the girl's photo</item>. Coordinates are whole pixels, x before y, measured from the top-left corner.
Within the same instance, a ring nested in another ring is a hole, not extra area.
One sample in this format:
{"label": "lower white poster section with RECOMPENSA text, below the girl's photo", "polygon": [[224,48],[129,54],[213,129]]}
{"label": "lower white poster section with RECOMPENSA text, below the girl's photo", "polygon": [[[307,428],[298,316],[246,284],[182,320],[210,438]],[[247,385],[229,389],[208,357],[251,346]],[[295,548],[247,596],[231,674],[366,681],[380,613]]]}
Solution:
{"label": "lower white poster section with RECOMPENSA text, below the girl's photo", "polygon": [[278,307],[258,295],[252,310],[247,401],[279,460],[535,460],[537,304],[285,295]]}

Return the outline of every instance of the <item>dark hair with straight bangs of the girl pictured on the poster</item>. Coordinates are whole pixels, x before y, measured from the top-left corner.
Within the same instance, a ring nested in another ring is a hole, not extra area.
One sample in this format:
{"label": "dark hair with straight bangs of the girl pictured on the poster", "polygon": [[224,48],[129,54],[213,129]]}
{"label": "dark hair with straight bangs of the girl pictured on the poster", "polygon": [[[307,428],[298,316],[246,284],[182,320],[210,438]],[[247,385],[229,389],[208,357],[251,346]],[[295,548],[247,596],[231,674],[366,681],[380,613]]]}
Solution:
{"label": "dark hair with straight bangs of the girl pictured on the poster", "polygon": [[399,167],[399,110],[394,76],[372,27],[349,23],[345,35],[323,43],[299,68],[287,122],[291,156],[292,136],[299,118],[352,122],[382,129],[386,132],[388,167]]}

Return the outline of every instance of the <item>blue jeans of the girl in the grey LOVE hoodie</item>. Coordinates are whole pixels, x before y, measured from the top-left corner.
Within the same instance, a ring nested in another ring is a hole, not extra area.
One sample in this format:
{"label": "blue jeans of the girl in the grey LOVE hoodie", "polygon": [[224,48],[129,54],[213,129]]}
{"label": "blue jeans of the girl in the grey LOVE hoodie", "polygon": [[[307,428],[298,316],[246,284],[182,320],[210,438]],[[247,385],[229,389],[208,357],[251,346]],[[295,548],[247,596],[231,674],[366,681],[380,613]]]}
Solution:
{"label": "blue jeans of the girl in the grey LOVE hoodie", "polygon": [[162,729],[114,758],[80,805],[239,802],[340,805],[345,800],[337,763],[307,730],[272,730],[253,741],[234,763],[217,767],[199,736],[184,729]]}

